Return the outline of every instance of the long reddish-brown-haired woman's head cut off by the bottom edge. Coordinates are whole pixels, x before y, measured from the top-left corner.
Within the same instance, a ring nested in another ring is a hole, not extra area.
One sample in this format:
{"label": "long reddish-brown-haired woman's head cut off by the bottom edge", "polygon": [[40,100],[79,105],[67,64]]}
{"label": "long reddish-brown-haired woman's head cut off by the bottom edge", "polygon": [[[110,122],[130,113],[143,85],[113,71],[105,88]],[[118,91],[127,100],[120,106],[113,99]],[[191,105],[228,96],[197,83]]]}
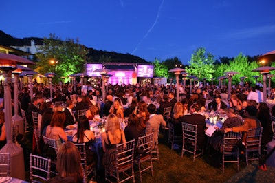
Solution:
{"label": "long reddish-brown-haired woman's head cut off by the bottom edge", "polygon": [[65,142],[56,161],[56,170],[58,176],[53,177],[49,182],[83,182],[83,166],[81,164],[80,154],[72,142]]}

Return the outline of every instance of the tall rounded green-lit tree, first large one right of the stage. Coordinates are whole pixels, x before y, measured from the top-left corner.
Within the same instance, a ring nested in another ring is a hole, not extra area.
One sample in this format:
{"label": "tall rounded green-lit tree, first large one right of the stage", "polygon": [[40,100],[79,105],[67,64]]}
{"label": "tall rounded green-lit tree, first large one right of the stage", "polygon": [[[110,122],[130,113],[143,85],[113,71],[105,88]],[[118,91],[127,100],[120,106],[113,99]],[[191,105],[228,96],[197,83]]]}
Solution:
{"label": "tall rounded green-lit tree, first large one right of the stage", "polygon": [[190,64],[186,67],[186,72],[196,76],[197,78],[206,78],[210,80],[214,73],[214,56],[206,49],[199,47],[194,54],[192,54]]}

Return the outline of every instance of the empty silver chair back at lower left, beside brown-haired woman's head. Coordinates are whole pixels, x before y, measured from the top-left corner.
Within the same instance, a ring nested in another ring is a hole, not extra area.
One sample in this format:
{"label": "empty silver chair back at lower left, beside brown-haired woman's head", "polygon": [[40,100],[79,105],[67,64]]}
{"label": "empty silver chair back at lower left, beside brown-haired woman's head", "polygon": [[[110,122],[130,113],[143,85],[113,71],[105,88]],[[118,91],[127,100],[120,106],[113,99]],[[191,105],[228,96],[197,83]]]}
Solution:
{"label": "empty silver chair back at lower left, beside brown-haired woman's head", "polygon": [[51,159],[30,154],[30,182],[35,180],[50,180]]}

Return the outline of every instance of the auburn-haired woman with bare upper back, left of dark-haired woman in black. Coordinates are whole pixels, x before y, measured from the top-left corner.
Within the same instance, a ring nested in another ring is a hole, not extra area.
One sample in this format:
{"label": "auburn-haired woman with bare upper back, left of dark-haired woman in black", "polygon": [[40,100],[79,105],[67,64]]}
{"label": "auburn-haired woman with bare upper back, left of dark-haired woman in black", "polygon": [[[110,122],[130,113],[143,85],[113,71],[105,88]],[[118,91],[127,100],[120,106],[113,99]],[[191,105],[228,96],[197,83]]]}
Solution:
{"label": "auburn-haired woman with bare upper back, left of dark-haired woman in black", "polygon": [[52,121],[46,129],[46,137],[54,138],[56,140],[67,141],[67,135],[63,129],[65,122],[65,113],[62,111],[56,111],[52,116]]}

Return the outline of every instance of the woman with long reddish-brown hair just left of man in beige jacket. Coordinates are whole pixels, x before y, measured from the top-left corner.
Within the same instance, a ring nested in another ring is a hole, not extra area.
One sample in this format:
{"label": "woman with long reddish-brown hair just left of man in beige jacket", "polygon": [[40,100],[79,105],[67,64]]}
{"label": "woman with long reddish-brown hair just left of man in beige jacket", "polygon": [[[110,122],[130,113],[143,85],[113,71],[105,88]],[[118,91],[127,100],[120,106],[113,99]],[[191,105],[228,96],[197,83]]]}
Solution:
{"label": "woman with long reddish-brown hair just left of man in beige jacket", "polygon": [[150,116],[150,114],[147,110],[147,103],[145,103],[144,101],[141,100],[137,104],[137,108],[133,113],[136,114],[137,117],[139,118],[140,126],[145,128],[146,127],[146,121],[148,121],[149,116]]}

